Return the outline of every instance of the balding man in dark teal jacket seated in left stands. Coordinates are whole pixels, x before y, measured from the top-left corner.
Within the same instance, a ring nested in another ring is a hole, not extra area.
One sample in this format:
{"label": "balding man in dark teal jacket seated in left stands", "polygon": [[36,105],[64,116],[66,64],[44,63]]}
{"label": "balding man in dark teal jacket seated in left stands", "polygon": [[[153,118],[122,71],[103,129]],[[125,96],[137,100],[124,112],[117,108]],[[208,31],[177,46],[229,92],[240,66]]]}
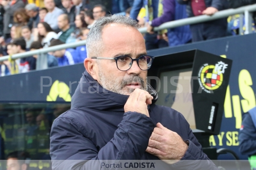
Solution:
{"label": "balding man in dark teal jacket seated in left stands", "polygon": [[58,17],[58,28],[61,29],[61,32],[58,33],[58,39],[62,42],[66,42],[67,38],[74,31],[74,28],[70,27],[67,14],[61,14]]}

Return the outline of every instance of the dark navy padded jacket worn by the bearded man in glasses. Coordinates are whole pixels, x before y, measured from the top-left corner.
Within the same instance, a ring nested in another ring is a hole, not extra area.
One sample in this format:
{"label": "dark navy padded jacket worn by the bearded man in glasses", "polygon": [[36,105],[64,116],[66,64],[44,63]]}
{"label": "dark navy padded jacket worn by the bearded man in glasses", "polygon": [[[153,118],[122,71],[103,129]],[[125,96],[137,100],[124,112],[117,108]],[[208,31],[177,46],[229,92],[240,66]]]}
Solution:
{"label": "dark navy padded jacket worn by the bearded man in glasses", "polygon": [[[52,169],[92,169],[90,161],[65,164],[54,160],[159,160],[145,152],[157,122],[177,132],[183,140],[189,140],[188,150],[182,159],[206,159],[207,167],[202,169],[218,169],[202,152],[201,145],[180,113],[155,104],[148,106],[150,117],[137,112],[125,113],[127,99],[128,96],[103,89],[85,71],[72,96],[71,109],[52,124]],[[179,162],[166,164],[167,169],[177,165],[184,166]],[[200,169],[198,166],[195,163],[189,168]]]}

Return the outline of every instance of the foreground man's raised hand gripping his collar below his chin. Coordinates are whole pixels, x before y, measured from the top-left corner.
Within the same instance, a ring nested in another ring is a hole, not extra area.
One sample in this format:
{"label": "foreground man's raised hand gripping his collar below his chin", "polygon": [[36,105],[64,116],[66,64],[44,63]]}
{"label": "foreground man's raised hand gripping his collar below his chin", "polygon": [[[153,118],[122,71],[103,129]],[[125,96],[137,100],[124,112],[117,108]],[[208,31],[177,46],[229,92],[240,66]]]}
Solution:
{"label": "foreground man's raised hand gripping his collar below his chin", "polygon": [[147,91],[136,88],[125,103],[125,112],[138,112],[149,117],[148,105],[152,103],[152,99],[153,97]]}

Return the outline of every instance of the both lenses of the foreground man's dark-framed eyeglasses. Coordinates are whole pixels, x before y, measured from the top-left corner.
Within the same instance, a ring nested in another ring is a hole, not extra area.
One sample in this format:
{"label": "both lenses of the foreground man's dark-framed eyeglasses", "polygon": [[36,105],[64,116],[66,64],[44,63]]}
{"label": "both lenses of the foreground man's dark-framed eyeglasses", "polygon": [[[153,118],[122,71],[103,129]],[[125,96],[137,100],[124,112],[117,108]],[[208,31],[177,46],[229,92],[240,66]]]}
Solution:
{"label": "both lenses of the foreground man's dark-framed eyeglasses", "polygon": [[[149,56],[141,56],[138,58],[139,67],[141,70],[148,70],[152,64],[152,58]],[[132,65],[132,58],[131,57],[119,57],[116,61],[117,67],[119,70],[126,71]]]}

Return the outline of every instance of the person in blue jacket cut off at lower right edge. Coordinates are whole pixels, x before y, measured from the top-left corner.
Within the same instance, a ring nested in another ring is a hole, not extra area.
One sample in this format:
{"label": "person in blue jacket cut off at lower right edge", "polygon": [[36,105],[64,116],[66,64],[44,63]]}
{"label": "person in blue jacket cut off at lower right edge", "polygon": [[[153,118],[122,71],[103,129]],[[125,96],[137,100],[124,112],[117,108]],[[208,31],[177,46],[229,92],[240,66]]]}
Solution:
{"label": "person in blue jacket cut off at lower right edge", "polygon": [[256,107],[244,113],[238,139],[240,153],[248,156],[251,169],[256,170]]}

